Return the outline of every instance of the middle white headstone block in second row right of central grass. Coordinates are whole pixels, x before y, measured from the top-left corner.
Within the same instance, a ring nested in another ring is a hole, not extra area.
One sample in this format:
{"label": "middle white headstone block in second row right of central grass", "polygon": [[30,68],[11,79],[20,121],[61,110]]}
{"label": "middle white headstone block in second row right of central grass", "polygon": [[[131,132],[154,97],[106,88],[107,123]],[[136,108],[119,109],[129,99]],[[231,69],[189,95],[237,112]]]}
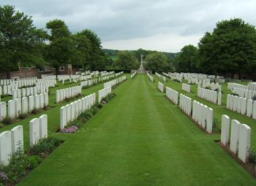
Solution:
{"label": "middle white headstone block in second row right of central grass", "polygon": [[199,98],[206,99],[211,103],[221,105],[222,104],[222,93],[214,90],[208,90],[206,88],[197,87],[197,96]]}

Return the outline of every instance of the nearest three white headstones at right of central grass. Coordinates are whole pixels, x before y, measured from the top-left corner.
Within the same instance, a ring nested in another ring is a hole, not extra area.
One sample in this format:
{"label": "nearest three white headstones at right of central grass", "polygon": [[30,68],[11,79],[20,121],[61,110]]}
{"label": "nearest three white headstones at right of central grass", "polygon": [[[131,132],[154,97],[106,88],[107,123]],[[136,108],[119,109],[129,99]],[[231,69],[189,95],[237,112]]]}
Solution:
{"label": "nearest three white headstones at right of central grass", "polygon": [[251,128],[248,125],[231,120],[230,130],[230,117],[222,115],[221,142],[225,146],[230,142],[230,150],[244,163],[249,160],[250,140]]}

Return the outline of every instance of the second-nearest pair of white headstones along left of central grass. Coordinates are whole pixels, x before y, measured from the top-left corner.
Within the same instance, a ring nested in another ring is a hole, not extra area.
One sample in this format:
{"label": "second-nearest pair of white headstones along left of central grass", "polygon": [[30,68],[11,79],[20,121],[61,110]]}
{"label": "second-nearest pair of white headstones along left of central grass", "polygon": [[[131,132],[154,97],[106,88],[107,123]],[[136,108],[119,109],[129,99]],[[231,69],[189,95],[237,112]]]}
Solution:
{"label": "second-nearest pair of white headstones along left of central grass", "polygon": [[29,122],[29,145],[30,147],[38,144],[40,139],[48,137],[48,117],[41,115]]}

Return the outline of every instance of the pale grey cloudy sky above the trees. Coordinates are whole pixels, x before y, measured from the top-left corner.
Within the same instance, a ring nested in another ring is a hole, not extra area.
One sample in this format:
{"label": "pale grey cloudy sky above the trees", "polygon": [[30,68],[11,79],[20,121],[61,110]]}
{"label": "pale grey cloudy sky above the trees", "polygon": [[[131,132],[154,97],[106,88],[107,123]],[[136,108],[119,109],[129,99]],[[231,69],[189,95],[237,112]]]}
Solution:
{"label": "pale grey cloudy sky above the trees", "polygon": [[220,20],[242,18],[256,25],[256,0],[1,0],[31,15],[34,25],[61,19],[70,31],[89,28],[102,47],[178,52],[195,44]]}

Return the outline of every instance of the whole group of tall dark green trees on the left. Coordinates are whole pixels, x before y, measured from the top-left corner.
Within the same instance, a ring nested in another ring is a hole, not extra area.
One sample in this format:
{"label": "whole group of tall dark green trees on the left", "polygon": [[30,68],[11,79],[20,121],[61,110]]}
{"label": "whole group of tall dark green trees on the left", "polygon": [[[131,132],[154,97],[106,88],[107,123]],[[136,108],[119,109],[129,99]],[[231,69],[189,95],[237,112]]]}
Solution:
{"label": "whole group of tall dark green trees on the left", "polygon": [[29,15],[15,7],[0,7],[0,71],[23,66],[39,69],[72,64],[81,69],[105,69],[107,58],[99,36],[89,29],[72,34],[63,20],[50,20],[36,28]]}

